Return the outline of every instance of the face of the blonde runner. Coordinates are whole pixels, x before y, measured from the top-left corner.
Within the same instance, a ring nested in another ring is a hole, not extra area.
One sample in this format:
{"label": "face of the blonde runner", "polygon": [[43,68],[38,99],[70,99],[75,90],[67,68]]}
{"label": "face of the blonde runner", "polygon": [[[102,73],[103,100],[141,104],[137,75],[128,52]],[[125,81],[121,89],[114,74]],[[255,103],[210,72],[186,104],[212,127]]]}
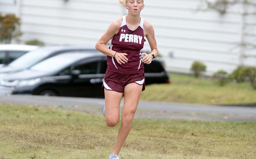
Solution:
{"label": "face of the blonde runner", "polygon": [[128,0],[125,8],[132,14],[138,14],[144,8],[144,4],[142,0]]}

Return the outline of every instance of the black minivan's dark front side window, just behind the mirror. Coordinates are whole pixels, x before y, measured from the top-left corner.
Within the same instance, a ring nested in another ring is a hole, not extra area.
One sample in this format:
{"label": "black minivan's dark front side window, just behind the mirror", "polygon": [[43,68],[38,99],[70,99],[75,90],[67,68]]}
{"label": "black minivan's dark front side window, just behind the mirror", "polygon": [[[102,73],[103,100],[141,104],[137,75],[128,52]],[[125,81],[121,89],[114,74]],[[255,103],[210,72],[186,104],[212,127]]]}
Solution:
{"label": "black minivan's dark front side window, just behind the mirror", "polygon": [[80,70],[81,74],[96,74],[98,68],[98,61],[75,66],[74,70]]}

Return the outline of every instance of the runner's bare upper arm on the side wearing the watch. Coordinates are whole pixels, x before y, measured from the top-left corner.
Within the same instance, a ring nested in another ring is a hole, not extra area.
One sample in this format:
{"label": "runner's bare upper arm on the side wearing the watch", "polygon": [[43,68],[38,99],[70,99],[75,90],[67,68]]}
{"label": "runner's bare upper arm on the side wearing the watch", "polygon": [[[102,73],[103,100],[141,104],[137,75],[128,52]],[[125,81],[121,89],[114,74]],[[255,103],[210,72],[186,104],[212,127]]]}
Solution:
{"label": "runner's bare upper arm on the side wearing the watch", "polygon": [[149,46],[151,48],[151,51],[153,49],[157,49],[156,46],[156,38],[155,38],[155,31],[153,26],[146,20],[144,20],[144,32],[145,32],[145,36],[149,42]]}

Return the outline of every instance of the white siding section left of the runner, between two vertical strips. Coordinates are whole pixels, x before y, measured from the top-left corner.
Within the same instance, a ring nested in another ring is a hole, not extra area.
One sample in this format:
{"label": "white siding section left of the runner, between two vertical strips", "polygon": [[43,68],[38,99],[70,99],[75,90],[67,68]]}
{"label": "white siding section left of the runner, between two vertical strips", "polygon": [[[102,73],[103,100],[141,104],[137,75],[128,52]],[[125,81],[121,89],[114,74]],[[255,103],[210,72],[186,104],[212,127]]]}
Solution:
{"label": "white siding section left of the runner, between two vertical strips", "polygon": [[21,40],[37,37],[58,45],[95,45],[121,12],[118,4],[104,0],[23,0],[21,5]]}

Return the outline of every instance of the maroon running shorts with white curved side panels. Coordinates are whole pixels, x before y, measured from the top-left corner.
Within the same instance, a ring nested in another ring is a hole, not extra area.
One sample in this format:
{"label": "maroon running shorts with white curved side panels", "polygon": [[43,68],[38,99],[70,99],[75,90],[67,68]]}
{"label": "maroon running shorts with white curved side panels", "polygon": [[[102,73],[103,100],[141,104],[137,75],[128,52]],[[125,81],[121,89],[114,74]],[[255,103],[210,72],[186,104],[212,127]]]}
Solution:
{"label": "maroon running shorts with white curved side panels", "polygon": [[145,75],[144,73],[136,74],[121,74],[113,71],[106,71],[104,76],[103,84],[101,87],[102,92],[104,93],[104,88],[106,90],[113,90],[116,92],[123,93],[124,87],[129,83],[137,83],[142,86],[142,91],[145,90]]}

